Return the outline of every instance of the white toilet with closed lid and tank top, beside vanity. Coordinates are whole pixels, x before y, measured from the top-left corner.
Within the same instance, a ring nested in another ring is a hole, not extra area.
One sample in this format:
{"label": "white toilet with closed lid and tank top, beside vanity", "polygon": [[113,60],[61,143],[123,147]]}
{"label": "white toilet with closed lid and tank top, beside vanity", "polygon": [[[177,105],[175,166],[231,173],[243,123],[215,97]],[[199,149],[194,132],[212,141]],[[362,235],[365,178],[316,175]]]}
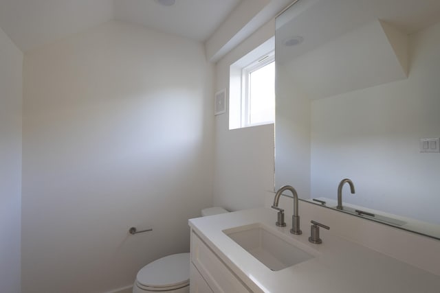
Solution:
{"label": "white toilet with closed lid and tank top, beside vanity", "polygon": [[[201,215],[228,213],[221,207],[202,209]],[[190,292],[190,254],[168,255],[148,263],[137,272],[133,293],[146,292],[189,293]]]}

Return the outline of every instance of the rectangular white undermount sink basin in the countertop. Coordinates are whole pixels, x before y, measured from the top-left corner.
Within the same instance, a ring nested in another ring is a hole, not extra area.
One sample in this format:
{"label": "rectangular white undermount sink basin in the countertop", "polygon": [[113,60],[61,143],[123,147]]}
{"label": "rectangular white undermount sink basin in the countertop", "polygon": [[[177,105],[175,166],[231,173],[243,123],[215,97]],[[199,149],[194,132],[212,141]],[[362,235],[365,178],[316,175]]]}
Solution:
{"label": "rectangular white undermount sink basin in the countertop", "polygon": [[223,230],[223,233],[270,270],[283,270],[314,258],[283,239],[283,235],[276,235],[260,223],[229,228]]}

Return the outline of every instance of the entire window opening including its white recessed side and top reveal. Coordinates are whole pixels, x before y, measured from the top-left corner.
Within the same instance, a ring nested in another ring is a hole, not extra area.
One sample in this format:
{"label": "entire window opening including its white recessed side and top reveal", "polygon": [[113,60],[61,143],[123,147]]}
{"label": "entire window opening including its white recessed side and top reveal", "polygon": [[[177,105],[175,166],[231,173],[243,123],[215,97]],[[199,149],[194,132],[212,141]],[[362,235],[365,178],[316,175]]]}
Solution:
{"label": "entire window opening including its white recessed side and top reveal", "polygon": [[274,120],[275,52],[271,38],[230,66],[229,129],[272,124]]}

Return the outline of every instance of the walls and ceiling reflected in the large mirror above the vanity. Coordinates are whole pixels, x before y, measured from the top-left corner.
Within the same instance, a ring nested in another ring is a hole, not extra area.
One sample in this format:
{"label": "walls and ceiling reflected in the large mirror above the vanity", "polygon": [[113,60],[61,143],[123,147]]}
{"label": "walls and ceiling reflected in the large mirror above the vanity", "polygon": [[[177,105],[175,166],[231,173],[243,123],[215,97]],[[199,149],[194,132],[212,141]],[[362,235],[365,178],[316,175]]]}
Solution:
{"label": "walls and ceiling reflected in the large mirror above the vanity", "polygon": [[440,137],[440,1],[305,0],[276,22],[276,188],[336,200],[351,178],[344,203],[440,224],[440,153],[420,152]]}

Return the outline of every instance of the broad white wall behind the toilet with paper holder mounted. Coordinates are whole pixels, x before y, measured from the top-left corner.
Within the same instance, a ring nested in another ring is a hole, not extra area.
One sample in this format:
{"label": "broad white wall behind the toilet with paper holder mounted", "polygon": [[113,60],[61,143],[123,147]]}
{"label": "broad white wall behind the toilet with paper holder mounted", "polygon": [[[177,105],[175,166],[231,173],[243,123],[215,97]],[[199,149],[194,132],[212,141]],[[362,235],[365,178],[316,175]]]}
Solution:
{"label": "broad white wall behind the toilet with paper holder mounted", "polygon": [[200,43],[114,21],[25,54],[23,292],[115,290],[189,251],[213,73]]}

